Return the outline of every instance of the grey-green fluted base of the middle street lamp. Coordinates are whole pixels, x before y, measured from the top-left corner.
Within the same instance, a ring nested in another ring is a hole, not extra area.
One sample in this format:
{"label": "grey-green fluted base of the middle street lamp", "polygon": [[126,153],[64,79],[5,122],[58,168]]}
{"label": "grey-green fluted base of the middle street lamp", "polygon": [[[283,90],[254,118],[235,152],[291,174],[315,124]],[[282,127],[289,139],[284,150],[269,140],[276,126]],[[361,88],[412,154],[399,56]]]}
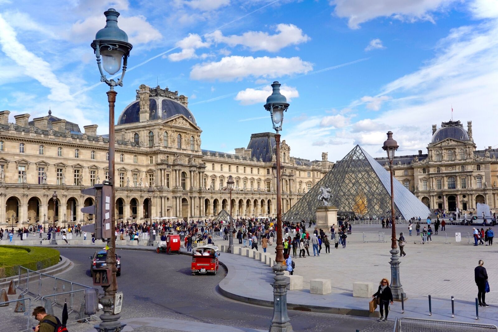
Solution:
{"label": "grey-green fluted base of the middle street lamp", "polygon": [[275,272],[273,287],[273,318],[269,332],[292,332],[292,325],[287,314],[287,282],[285,281],[285,265],[276,262],[272,267]]}

